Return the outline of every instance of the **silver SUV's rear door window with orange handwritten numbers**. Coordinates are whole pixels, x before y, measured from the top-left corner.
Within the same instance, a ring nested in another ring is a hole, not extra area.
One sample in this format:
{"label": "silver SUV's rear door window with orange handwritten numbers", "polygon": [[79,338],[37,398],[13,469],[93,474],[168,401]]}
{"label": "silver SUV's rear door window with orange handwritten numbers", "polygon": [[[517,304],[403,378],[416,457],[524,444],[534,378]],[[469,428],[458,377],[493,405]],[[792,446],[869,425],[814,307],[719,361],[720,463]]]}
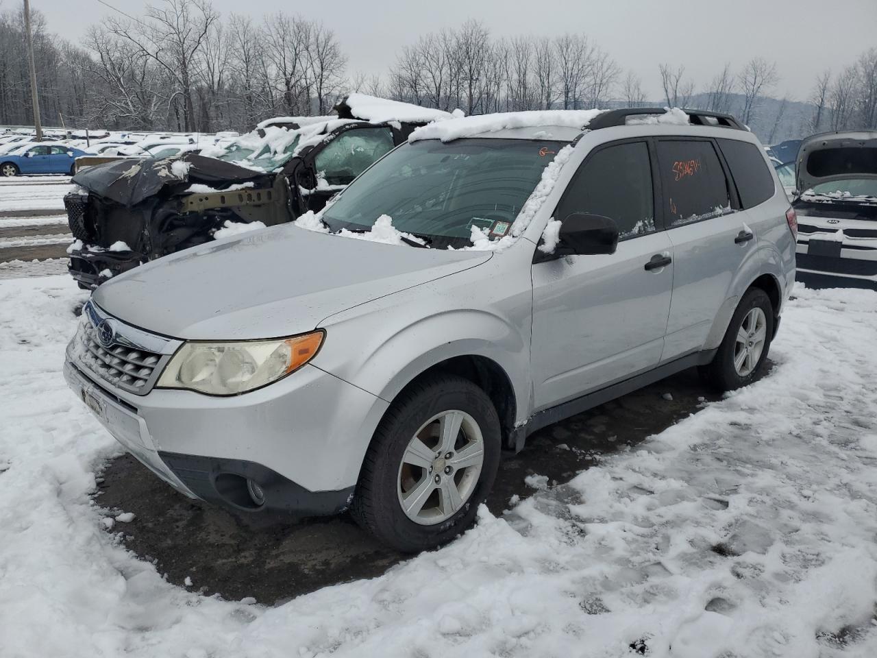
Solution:
{"label": "silver SUV's rear door window with orange handwritten numbers", "polygon": [[728,182],[711,142],[661,139],[658,163],[668,227],[731,211]]}

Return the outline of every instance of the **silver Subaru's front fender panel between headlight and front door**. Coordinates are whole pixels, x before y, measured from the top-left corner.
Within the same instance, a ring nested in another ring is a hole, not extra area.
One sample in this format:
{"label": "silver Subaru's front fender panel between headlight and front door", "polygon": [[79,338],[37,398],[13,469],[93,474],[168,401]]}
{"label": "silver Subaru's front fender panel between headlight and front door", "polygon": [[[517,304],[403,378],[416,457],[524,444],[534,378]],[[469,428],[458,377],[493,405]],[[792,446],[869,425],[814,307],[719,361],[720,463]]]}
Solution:
{"label": "silver Subaru's front fender panel between headlight and front door", "polygon": [[[493,286],[484,284],[496,281],[485,268],[491,265],[327,318],[326,341],[312,363],[392,402],[417,375],[442,361],[481,356],[508,375],[516,421],[526,418],[531,409],[529,270],[507,276],[503,286]],[[453,285],[447,285],[449,279]]]}

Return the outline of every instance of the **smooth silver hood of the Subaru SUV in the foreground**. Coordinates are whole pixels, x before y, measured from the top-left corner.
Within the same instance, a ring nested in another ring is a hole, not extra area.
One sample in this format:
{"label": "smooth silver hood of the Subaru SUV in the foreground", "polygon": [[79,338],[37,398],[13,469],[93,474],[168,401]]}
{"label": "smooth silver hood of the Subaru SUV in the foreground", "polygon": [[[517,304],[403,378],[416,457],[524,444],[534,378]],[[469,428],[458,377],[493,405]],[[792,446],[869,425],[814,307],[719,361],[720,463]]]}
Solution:
{"label": "smooth silver hood of the Subaru SUV in the foreground", "polygon": [[339,240],[282,224],[147,262],[93,298],[125,322],[175,338],[250,340],[310,331],[330,315],[489,257]]}

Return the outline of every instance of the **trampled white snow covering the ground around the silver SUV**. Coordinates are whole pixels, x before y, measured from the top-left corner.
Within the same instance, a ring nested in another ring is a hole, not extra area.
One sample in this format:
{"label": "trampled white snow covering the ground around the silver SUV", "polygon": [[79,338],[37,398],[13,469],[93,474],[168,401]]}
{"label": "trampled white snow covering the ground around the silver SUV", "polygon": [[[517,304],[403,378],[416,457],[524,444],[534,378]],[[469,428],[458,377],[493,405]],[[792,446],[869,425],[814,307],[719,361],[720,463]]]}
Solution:
{"label": "trampled white snow covering the ground around the silver SUV", "polygon": [[118,447],[61,378],[84,293],[2,281],[0,655],[871,657],[877,294],[797,295],[759,383],[448,547],[265,608],[121,546],[89,497]]}

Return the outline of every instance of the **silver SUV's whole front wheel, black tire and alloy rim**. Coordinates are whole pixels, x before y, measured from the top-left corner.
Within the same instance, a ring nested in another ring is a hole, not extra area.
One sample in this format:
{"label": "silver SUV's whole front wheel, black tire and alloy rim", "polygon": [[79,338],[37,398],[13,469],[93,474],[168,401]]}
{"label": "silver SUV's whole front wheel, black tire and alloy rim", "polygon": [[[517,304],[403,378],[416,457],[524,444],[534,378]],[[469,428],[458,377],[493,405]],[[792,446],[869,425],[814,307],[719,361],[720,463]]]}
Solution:
{"label": "silver SUV's whole front wheel, black tire and alloy rim", "polygon": [[439,547],[474,522],[500,452],[499,418],[483,390],[456,375],[415,383],[374,433],[353,519],[399,551]]}

